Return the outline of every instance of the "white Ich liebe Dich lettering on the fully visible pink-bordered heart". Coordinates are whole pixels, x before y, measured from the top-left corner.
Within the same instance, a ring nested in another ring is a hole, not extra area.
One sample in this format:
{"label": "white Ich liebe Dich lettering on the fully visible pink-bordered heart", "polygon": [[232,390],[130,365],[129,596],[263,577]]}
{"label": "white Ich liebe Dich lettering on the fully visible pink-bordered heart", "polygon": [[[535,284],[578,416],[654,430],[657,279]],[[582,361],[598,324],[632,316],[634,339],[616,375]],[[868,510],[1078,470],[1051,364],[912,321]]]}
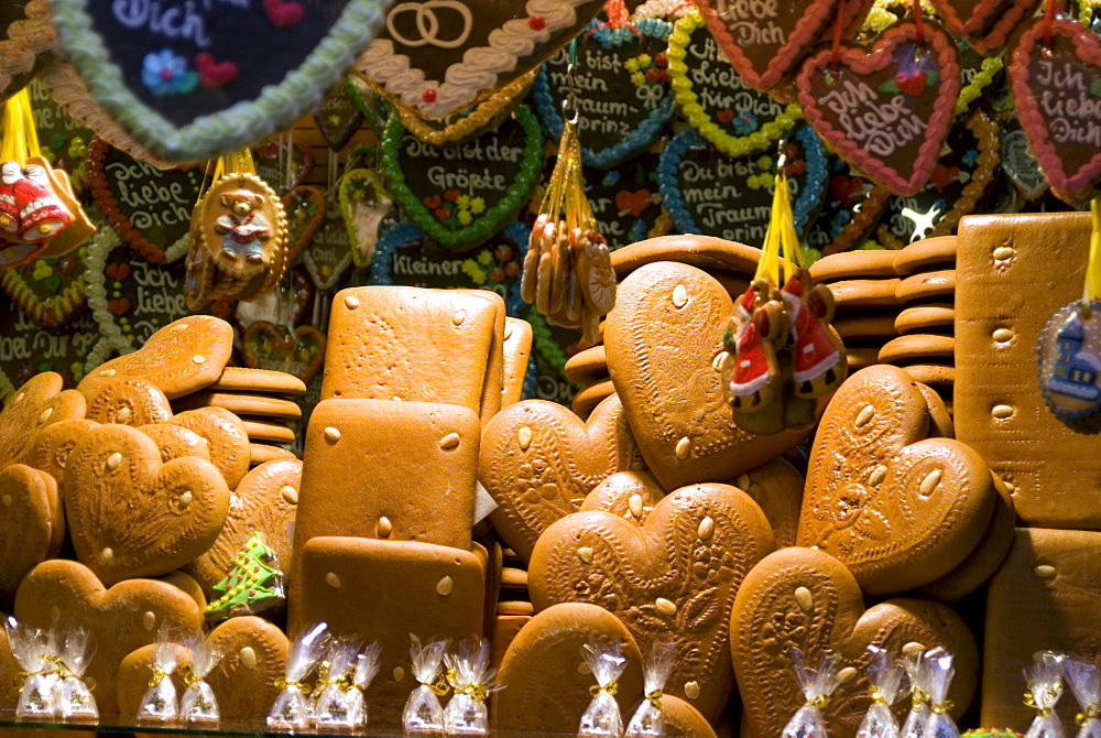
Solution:
{"label": "white Ich liebe Dich lettering on the fully visible pink-bordered heart", "polygon": [[887,100],[863,80],[846,79],[820,98],[837,116],[846,135],[875,156],[886,159],[919,138],[927,128],[902,95]]}

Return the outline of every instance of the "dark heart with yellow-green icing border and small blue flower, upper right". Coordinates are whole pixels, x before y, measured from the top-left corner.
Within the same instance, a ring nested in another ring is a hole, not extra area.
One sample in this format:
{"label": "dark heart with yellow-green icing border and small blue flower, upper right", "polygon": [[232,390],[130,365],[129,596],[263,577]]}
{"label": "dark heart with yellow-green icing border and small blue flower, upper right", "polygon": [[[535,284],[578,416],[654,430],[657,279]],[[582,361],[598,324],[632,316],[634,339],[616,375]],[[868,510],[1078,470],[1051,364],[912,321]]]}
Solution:
{"label": "dark heart with yellow-green icing border and small blue flower, upper right", "polygon": [[668,59],[677,105],[693,128],[728,156],[761,151],[803,118],[795,106],[746,85],[696,11],[674,25]]}

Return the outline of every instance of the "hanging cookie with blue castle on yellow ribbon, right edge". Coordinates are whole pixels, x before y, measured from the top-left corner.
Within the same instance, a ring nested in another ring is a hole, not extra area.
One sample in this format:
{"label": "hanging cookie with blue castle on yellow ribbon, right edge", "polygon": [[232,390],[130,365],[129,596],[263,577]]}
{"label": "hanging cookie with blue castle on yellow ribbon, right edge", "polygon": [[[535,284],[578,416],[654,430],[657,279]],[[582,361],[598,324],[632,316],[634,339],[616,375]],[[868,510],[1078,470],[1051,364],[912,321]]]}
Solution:
{"label": "hanging cookie with blue castle on yellow ribbon, right edge", "polygon": [[1056,313],[1037,346],[1047,409],[1079,433],[1101,431],[1101,199],[1090,204],[1093,232],[1081,300]]}

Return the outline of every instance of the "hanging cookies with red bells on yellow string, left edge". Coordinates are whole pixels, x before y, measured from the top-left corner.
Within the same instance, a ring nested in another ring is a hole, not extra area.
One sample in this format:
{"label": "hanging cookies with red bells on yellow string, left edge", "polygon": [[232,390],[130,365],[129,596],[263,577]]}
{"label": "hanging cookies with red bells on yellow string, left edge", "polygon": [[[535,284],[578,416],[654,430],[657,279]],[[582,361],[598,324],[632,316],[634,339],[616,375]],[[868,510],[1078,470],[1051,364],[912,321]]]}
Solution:
{"label": "hanging cookies with red bells on yellow string, left edge", "polygon": [[0,268],[68,253],[96,228],[68,174],[41,155],[26,89],[3,104],[0,126]]}

